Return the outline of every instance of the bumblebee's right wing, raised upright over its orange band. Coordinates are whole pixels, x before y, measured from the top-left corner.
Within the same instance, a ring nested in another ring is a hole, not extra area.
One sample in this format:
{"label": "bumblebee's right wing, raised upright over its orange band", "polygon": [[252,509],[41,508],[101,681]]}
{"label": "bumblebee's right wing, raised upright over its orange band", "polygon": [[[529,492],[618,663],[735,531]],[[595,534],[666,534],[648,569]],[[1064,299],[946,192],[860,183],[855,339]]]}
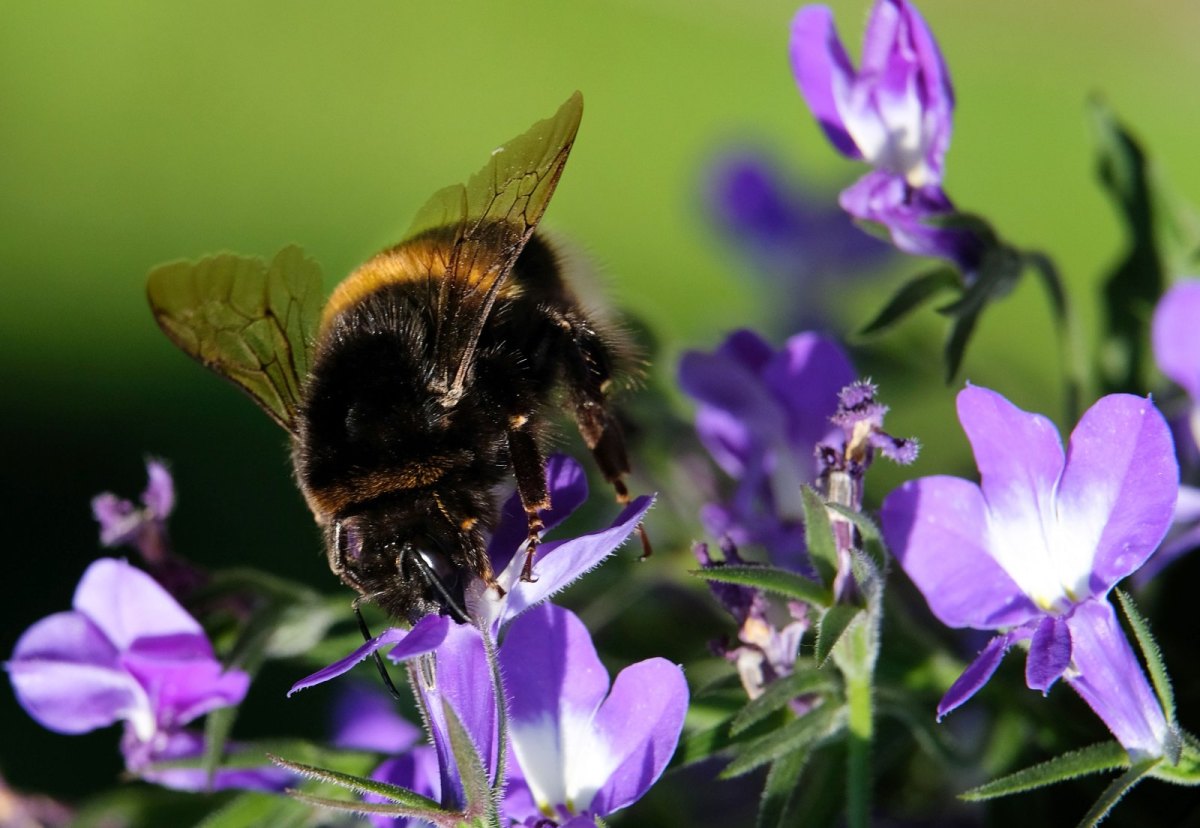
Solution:
{"label": "bumblebee's right wing, raised upright over its orange band", "polygon": [[444,277],[437,292],[436,364],[448,404],[462,396],[475,347],[517,256],[541,221],[583,114],[575,92],[558,112],[492,151],[466,186],[437,192],[409,238],[437,233],[449,244],[436,262]]}

